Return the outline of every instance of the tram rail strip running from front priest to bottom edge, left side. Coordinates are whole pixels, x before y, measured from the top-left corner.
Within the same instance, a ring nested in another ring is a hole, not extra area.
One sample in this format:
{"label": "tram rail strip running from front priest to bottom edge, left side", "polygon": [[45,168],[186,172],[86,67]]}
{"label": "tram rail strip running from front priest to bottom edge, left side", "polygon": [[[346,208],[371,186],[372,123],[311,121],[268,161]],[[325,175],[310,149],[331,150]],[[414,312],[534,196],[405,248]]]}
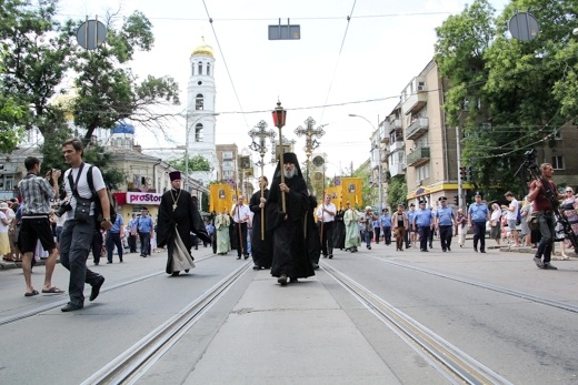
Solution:
{"label": "tram rail strip running from front priest to bottom edge, left side", "polygon": [[245,262],[232,273],[196,298],[109,364],[82,382],[93,384],[134,384],[162,357],[227,291],[250,271],[252,262]]}

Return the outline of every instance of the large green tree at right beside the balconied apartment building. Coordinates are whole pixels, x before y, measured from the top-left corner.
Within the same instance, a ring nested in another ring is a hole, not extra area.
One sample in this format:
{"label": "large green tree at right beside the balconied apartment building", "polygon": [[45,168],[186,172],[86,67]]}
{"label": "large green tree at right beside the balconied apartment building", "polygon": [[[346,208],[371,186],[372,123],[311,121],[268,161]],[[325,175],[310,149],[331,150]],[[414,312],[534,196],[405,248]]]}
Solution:
{"label": "large green tree at right beside the balconied apartment building", "polygon": [[[517,10],[538,20],[536,39],[509,36]],[[462,160],[476,184],[515,190],[524,152],[555,145],[552,134],[578,116],[577,12],[572,0],[515,0],[495,16],[487,0],[476,0],[436,30],[447,123],[462,126]]]}

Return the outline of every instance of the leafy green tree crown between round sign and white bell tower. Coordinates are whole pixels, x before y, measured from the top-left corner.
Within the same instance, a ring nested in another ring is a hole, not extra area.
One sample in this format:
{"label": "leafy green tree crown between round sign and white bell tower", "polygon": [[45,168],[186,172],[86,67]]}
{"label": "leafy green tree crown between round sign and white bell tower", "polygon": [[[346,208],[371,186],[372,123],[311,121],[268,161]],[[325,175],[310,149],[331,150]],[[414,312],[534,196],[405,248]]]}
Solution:
{"label": "leafy green tree crown between round sign and white bell tower", "polygon": [[73,102],[74,123],[86,128],[88,143],[97,128],[111,129],[130,120],[153,132],[175,114],[166,112],[170,104],[179,104],[179,87],[170,77],[147,77],[139,82],[128,64],[134,52],[150,51],[155,42],[152,26],[136,11],[114,28],[118,17],[109,14],[107,41],[99,49],[76,48],[74,81],[78,98]]}

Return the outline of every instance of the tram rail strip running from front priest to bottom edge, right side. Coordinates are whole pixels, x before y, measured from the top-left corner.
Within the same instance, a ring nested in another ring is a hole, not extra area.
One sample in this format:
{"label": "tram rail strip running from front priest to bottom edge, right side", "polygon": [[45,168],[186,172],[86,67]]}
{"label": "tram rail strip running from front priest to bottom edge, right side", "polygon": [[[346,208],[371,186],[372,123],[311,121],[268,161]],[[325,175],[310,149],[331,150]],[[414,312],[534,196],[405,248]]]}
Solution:
{"label": "tram rail strip running from front priest to bottom edge, right side", "polygon": [[339,270],[322,270],[452,384],[511,384]]}

